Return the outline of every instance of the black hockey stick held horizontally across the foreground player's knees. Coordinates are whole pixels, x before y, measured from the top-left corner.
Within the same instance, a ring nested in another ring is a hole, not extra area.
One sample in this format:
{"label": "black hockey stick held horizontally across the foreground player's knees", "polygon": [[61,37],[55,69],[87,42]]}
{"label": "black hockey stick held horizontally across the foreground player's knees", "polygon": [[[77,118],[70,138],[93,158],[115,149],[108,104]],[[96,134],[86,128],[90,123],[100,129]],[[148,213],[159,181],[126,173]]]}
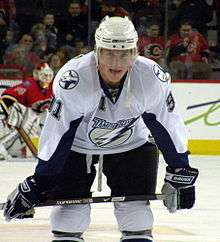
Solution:
{"label": "black hockey stick held horizontally across the foreground player's knees", "polygon": [[[44,203],[38,204],[36,207],[47,207],[47,206],[60,206],[60,205],[76,205],[76,204],[87,204],[87,203],[108,203],[108,202],[130,202],[130,201],[147,201],[147,200],[164,200],[165,195],[163,194],[152,194],[152,195],[132,195],[122,197],[91,197],[91,198],[73,198],[73,199],[60,199],[60,200],[48,200]],[[4,209],[5,203],[0,203],[0,210]]]}

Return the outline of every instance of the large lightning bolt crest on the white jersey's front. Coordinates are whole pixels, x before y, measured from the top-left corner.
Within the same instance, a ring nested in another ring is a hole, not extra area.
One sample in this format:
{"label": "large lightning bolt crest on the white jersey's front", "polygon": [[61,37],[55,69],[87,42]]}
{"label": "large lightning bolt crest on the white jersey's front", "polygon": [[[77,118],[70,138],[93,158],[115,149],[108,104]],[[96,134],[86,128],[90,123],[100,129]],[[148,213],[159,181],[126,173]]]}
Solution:
{"label": "large lightning bolt crest on the white jersey's front", "polygon": [[134,123],[137,119],[131,118],[119,120],[117,123],[110,123],[104,119],[95,117],[89,138],[93,144],[100,148],[120,146],[131,137]]}

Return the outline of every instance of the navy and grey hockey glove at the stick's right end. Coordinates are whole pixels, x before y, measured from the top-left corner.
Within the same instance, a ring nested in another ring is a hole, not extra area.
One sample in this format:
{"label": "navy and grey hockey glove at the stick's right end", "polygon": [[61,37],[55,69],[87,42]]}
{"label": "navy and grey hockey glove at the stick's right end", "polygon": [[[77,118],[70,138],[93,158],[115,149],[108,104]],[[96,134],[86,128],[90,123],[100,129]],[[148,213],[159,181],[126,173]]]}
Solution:
{"label": "navy and grey hockey glove at the stick's right end", "polygon": [[174,213],[178,209],[193,207],[195,203],[195,186],[193,184],[198,174],[199,171],[191,167],[166,167],[162,193],[165,195],[164,205],[170,213]]}

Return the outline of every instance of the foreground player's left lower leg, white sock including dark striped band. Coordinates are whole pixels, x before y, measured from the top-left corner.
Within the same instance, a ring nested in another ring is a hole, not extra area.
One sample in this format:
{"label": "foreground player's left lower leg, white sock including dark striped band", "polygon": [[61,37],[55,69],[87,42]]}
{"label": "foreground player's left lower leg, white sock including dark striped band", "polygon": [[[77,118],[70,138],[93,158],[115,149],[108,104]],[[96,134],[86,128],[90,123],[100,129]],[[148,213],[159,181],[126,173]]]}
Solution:
{"label": "foreground player's left lower leg, white sock including dark striped band", "polygon": [[90,220],[89,204],[54,207],[50,216],[52,242],[84,242]]}

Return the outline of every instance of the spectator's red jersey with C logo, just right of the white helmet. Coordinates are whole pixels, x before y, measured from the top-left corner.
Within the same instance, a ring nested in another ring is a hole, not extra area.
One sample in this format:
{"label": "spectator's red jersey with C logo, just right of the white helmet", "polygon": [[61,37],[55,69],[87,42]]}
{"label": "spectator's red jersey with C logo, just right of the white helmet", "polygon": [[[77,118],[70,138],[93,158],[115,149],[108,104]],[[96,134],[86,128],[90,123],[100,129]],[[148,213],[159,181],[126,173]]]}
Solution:
{"label": "spectator's red jersey with C logo, just right of the white helmet", "polygon": [[164,55],[165,41],[163,37],[150,38],[140,36],[138,39],[139,54],[154,61],[158,61]]}

